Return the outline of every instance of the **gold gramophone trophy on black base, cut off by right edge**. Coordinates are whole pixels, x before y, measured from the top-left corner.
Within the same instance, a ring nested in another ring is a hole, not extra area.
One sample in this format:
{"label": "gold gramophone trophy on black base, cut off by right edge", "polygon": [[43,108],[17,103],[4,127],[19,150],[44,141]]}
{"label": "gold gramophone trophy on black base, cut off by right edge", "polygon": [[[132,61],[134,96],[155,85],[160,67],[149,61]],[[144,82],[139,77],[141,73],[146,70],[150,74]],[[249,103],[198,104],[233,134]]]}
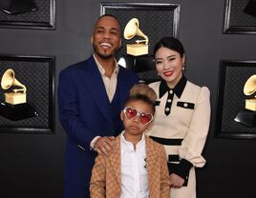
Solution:
{"label": "gold gramophone trophy on black base, cut off by right edge", "polygon": [[256,127],[256,74],[246,80],[244,93],[245,109],[240,110],[234,120],[253,128]]}

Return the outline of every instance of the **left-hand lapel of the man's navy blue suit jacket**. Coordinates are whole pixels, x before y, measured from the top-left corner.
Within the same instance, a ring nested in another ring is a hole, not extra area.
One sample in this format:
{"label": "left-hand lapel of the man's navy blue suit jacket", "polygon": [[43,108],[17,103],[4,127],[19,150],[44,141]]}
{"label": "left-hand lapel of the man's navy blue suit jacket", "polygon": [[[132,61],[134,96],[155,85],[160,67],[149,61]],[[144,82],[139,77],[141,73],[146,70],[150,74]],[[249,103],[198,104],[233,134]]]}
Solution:
{"label": "left-hand lapel of the man's navy blue suit jacket", "polygon": [[98,107],[99,111],[105,116],[105,118],[111,123],[111,112],[109,109],[109,105],[106,106],[106,104],[109,104],[108,95],[93,56],[88,59],[87,65],[85,65],[84,69],[86,71],[84,75],[84,80],[87,82],[84,86],[89,85],[87,86],[87,89],[92,95],[96,106]]}

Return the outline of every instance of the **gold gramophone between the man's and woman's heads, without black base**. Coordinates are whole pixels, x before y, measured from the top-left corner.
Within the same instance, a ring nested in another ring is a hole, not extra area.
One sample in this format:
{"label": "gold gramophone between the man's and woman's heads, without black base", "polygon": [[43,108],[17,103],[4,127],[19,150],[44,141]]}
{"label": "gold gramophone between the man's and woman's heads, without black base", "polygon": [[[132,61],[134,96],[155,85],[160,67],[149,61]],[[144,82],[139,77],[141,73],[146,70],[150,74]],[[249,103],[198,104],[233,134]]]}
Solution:
{"label": "gold gramophone between the man's and woman's heads, without black base", "polygon": [[130,40],[135,36],[140,36],[142,40],[136,40],[134,44],[126,45],[127,54],[139,56],[148,54],[148,37],[139,30],[139,20],[137,18],[132,18],[125,26],[123,36],[125,39]]}

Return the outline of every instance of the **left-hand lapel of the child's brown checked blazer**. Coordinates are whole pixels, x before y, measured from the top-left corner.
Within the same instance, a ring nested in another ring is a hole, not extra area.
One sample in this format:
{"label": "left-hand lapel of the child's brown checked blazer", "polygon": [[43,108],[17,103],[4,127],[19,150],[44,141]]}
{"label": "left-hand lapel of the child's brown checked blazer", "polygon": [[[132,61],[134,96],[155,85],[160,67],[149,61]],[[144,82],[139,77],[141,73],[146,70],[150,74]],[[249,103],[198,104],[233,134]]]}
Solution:
{"label": "left-hand lapel of the child's brown checked blazer", "polygon": [[111,165],[115,171],[115,176],[119,185],[121,184],[121,150],[120,150],[120,135],[116,138],[116,152],[110,156]]}

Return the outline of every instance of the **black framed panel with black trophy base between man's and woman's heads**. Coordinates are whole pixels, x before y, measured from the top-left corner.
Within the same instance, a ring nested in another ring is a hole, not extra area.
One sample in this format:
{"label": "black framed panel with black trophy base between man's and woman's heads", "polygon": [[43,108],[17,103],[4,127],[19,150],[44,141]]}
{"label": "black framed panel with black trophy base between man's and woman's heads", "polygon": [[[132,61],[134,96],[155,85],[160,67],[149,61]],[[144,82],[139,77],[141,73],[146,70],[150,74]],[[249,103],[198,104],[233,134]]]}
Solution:
{"label": "black framed panel with black trophy base between man's and woman's heads", "polygon": [[122,39],[122,47],[117,53],[118,63],[128,69],[136,71],[142,82],[150,83],[160,80],[155,69],[153,48],[163,36],[178,35],[180,19],[179,4],[150,4],[150,3],[101,3],[101,15],[109,13],[115,15],[121,27],[127,25],[132,18],[139,20],[139,28],[149,38],[148,54],[132,56],[127,54],[126,45],[141,39],[139,36],[126,40]]}

